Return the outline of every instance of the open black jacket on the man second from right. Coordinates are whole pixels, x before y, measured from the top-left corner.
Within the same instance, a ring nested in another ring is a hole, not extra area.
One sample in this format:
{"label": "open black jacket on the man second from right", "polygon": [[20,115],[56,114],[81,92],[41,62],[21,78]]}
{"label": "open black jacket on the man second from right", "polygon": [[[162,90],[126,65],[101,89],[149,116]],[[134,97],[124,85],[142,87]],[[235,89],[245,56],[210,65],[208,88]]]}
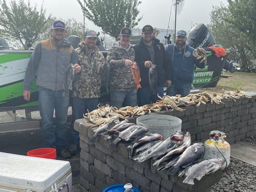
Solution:
{"label": "open black jacket on the man second from right", "polygon": [[[157,85],[163,86],[165,81],[165,49],[164,45],[159,40],[153,38],[154,50],[155,50],[155,65],[157,68]],[[150,52],[147,49],[143,39],[134,46],[135,61],[140,68],[140,85],[143,87],[149,87],[149,69],[144,66],[145,61],[151,61]]]}

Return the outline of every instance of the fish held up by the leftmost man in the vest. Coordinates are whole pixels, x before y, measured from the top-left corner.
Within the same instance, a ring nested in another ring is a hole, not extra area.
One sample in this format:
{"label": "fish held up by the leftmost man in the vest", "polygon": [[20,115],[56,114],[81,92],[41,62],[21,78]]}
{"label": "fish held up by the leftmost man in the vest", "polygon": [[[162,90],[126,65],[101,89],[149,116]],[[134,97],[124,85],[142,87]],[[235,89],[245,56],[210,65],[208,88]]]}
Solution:
{"label": "fish held up by the leftmost man in the vest", "polygon": [[72,63],[67,66],[65,75],[64,75],[64,92],[62,94],[63,97],[69,96],[69,90],[72,90],[72,82],[75,80],[75,67]]}

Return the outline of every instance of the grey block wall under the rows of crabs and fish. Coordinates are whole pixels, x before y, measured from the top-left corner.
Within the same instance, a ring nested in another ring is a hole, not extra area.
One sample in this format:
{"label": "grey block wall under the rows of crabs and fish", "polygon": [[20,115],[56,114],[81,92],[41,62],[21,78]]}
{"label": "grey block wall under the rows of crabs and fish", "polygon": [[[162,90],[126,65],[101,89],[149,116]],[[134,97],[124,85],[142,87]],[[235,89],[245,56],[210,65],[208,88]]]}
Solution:
{"label": "grey block wall under the rows of crabs and fish", "polygon": [[[183,120],[182,130],[189,131],[193,142],[209,139],[211,130],[225,132],[232,144],[247,136],[256,135],[256,96],[225,100],[224,104],[206,104],[186,107],[185,111],[161,111]],[[131,121],[135,121],[132,119]],[[86,191],[98,192],[114,184],[132,183],[142,192],[147,191],[210,191],[210,186],[221,178],[221,171],[204,176],[195,185],[186,185],[184,178],[170,177],[167,170],[158,171],[152,160],[137,163],[129,159],[127,145],[120,142],[114,152],[109,146],[112,140],[99,139],[92,144],[93,129],[88,128],[85,119],[76,120],[75,129],[80,132],[80,184]]]}

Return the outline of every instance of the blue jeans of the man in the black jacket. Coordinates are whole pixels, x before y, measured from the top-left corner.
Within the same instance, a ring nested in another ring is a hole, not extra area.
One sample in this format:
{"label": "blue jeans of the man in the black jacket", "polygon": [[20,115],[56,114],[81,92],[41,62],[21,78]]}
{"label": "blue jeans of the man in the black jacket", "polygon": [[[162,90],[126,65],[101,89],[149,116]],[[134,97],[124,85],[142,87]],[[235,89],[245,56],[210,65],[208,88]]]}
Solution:
{"label": "blue jeans of the man in the black jacket", "polygon": [[[164,96],[164,87],[157,85],[156,92],[159,96]],[[152,94],[150,87],[142,87],[138,89],[138,106],[148,105],[151,103],[156,102],[157,100],[160,100],[159,97],[157,97],[156,94]]]}

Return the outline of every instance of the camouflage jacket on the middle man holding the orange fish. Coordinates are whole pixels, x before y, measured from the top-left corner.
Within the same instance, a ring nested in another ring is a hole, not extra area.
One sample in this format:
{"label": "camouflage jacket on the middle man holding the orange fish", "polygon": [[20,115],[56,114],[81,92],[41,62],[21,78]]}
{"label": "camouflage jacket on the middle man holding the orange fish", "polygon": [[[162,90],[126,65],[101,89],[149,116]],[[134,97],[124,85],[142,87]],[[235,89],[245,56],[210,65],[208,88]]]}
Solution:
{"label": "camouflage jacket on the middle man holding the orange fish", "polygon": [[110,90],[131,91],[136,88],[131,67],[125,66],[125,60],[134,61],[135,51],[131,44],[125,49],[116,42],[107,52],[107,62],[110,65]]}

